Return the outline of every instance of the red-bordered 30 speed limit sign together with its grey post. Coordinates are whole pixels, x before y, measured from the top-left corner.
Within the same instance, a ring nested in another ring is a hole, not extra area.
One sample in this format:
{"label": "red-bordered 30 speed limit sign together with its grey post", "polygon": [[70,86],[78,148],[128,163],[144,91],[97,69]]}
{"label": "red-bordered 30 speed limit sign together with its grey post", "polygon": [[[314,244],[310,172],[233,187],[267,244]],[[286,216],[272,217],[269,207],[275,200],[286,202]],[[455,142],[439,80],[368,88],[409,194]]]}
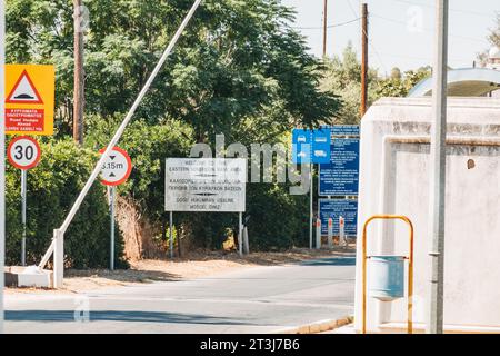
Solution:
{"label": "red-bordered 30 speed limit sign together with its grey post", "polygon": [[26,266],[26,206],[28,169],[37,167],[40,162],[41,149],[36,139],[28,136],[21,136],[10,141],[10,145],[7,148],[7,155],[10,164],[21,170],[21,265]]}

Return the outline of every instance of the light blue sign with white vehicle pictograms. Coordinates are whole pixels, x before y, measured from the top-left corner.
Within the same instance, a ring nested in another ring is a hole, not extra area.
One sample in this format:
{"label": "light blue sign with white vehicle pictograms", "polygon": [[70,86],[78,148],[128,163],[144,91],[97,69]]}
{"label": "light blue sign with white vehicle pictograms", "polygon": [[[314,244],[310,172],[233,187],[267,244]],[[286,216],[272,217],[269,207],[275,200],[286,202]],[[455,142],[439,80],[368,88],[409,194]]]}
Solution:
{"label": "light blue sign with white vehicle pictograms", "polygon": [[292,161],[301,164],[328,164],[331,155],[330,129],[294,129],[292,132]]}

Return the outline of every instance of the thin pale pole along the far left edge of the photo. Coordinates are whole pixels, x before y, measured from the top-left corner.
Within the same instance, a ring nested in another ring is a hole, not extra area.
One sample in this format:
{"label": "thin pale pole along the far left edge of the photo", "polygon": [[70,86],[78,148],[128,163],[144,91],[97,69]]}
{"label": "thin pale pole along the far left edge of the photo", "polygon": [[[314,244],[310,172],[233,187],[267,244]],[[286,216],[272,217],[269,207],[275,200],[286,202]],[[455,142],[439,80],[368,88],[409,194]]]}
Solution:
{"label": "thin pale pole along the far left edge of the photo", "polygon": [[[6,77],[6,1],[0,1],[0,78]],[[2,79],[3,80],[3,79]],[[6,97],[0,86],[0,98]],[[4,100],[0,100],[0,112],[6,112]],[[3,286],[6,263],[6,116],[0,115],[0,334],[3,334]]]}

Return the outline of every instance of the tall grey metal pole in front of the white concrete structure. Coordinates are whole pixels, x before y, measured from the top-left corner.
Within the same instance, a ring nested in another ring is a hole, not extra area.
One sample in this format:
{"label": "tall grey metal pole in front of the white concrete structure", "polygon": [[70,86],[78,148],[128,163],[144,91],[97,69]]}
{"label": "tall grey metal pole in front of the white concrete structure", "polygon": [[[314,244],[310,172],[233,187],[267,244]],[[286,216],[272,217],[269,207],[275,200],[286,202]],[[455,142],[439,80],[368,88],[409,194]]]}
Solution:
{"label": "tall grey metal pole in front of the white concrete structure", "polygon": [[434,122],[431,129],[429,231],[432,236],[429,334],[443,333],[444,199],[448,90],[448,0],[436,0],[437,40],[432,90]]}

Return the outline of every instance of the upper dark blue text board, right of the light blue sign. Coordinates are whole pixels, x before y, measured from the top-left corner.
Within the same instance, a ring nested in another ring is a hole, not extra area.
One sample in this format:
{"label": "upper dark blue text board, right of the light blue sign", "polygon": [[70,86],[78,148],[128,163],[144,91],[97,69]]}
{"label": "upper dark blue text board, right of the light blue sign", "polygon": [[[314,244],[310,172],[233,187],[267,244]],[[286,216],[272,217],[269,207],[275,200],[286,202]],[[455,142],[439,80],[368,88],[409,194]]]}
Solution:
{"label": "upper dark blue text board, right of the light blue sign", "polygon": [[331,159],[320,165],[320,196],[357,196],[359,190],[359,138],[332,138]]}

